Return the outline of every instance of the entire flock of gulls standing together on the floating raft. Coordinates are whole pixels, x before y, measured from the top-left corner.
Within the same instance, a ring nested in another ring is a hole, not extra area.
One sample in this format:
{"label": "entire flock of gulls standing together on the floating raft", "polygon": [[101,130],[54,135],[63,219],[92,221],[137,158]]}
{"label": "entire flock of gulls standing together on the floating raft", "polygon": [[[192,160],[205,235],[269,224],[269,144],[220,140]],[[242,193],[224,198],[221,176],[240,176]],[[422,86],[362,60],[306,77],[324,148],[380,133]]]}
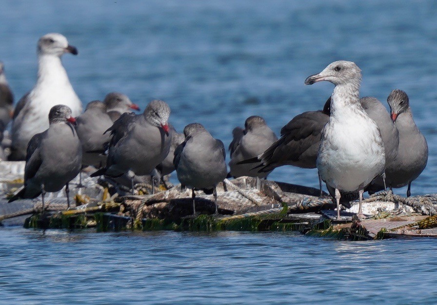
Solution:
{"label": "entire flock of gulls standing together on the floating raft", "polygon": [[[168,123],[169,105],[150,102],[142,114],[121,93],[108,94],[103,102],[82,104],[62,66],[64,53],[78,54],[58,34],[38,41],[38,80],[13,109],[13,95],[0,65],[0,131],[12,119],[9,160],[25,160],[24,185],[11,201],[36,198],[64,186],[69,201],[69,182],[86,166],[91,176],[126,177],[133,189],[135,177],[156,177],[177,172],[182,186],[214,194],[225,178],[251,176],[258,179],[278,166],[318,168],[322,181],[336,199],[348,205],[359,198],[363,217],[364,191],[408,185],[426,166],[428,146],[417,128],[405,92],[393,90],[386,108],[376,98],[359,98],[361,70],[351,61],[335,61],[305,80],[305,84],[329,81],[335,85],[323,110],[299,114],[281,129],[278,139],[259,116],[249,117],[244,129],[236,127],[229,145],[228,173],[223,142],[199,123],[185,126],[179,134]],[[48,120],[47,120],[48,118]],[[4,143],[5,141],[3,141]],[[7,141],[6,141],[7,142]],[[154,189],[154,187],[152,187]],[[341,200],[341,201],[340,201]]]}

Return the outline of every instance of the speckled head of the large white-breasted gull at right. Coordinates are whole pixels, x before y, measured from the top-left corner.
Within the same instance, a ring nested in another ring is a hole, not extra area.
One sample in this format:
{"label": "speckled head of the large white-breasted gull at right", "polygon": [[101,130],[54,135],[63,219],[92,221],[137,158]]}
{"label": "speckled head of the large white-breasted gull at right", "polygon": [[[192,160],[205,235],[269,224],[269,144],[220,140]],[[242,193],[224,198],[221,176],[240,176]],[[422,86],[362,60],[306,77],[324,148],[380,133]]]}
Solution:
{"label": "speckled head of the large white-breasted gull at right", "polygon": [[334,61],[330,63],[322,72],[309,76],[305,80],[306,85],[312,85],[318,81],[329,81],[340,85],[350,82],[361,82],[361,70],[352,61]]}

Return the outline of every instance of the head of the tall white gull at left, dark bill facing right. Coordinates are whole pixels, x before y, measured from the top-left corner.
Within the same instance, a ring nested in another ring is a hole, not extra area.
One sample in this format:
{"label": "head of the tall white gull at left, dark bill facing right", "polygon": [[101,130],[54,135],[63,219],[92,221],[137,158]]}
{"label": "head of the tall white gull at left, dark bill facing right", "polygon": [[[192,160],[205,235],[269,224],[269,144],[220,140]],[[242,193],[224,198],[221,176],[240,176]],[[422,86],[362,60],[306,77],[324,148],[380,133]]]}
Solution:
{"label": "head of the tall white gull at left, dark bill facing right", "polygon": [[49,33],[38,41],[39,55],[55,55],[61,57],[64,53],[78,55],[78,49],[68,44],[65,36],[59,33]]}

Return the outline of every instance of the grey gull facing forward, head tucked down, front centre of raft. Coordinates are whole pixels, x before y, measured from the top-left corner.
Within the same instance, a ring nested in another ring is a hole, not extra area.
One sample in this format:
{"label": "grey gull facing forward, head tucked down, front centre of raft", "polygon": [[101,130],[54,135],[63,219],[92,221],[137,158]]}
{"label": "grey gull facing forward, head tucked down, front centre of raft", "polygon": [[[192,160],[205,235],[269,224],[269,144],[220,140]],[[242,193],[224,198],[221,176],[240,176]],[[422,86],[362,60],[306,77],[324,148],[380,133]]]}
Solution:
{"label": "grey gull facing forward, head tucked down, front centre of raft", "polygon": [[214,194],[218,214],[216,185],[227,175],[223,142],[213,138],[199,123],[186,125],[183,133],[185,141],[176,148],[174,163],[182,187],[191,188],[193,215],[196,215],[195,189]]}

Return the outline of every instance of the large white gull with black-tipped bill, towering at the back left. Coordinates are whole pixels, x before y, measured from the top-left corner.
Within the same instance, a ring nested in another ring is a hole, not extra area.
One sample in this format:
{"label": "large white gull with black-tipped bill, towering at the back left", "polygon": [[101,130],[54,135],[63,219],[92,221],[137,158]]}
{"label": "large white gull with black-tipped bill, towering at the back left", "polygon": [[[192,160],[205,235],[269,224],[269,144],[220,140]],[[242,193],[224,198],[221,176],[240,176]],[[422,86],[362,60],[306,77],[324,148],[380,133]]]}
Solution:
{"label": "large white gull with black-tipped bill, towering at the back left", "polygon": [[12,147],[9,159],[24,160],[29,140],[48,128],[50,109],[62,102],[70,107],[73,117],[82,112],[82,103],[61,63],[64,53],[78,54],[58,33],[44,35],[38,41],[38,80],[34,88],[17,103],[12,123]]}

